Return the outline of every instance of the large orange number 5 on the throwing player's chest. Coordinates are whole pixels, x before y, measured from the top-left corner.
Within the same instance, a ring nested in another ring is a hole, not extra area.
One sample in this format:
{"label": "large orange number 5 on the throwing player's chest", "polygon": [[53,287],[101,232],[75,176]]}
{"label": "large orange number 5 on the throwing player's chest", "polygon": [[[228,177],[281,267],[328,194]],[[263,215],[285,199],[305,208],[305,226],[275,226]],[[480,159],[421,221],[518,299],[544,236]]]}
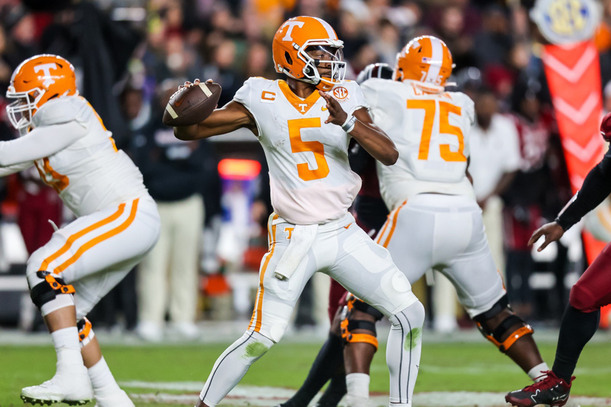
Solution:
{"label": "large orange number 5 on the throwing player's chest", "polygon": [[304,142],[301,140],[301,129],[320,127],[320,117],[288,120],[288,137],[291,140],[291,152],[304,153],[311,151],[316,160],[316,170],[310,170],[307,162],[297,164],[299,178],[304,181],[321,179],[329,175],[329,165],[324,158],[324,146],[321,142]]}

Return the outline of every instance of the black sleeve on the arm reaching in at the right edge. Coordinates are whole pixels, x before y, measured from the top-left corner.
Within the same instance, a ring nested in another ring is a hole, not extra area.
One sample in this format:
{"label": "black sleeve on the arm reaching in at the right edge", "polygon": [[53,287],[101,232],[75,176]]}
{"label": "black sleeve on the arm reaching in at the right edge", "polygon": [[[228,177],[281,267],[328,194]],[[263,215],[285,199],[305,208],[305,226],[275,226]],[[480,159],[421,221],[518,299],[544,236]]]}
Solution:
{"label": "black sleeve on the arm reaching in at the right edge", "polygon": [[568,230],[611,193],[611,149],[585,177],[576,199],[556,218],[558,225]]}

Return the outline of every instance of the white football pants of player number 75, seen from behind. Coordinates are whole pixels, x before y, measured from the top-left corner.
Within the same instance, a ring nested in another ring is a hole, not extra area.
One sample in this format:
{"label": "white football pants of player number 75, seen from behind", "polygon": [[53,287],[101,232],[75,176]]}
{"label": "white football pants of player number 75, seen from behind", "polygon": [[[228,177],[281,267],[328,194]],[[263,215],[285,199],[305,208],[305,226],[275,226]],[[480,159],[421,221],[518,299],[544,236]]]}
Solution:
{"label": "white football pants of player number 75, seen from behind", "polygon": [[409,281],[417,281],[429,268],[447,276],[470,317],[488,311],[506,293],[481,209],[466,196],[412,196],[390,212],[376,242],[390,251]]}

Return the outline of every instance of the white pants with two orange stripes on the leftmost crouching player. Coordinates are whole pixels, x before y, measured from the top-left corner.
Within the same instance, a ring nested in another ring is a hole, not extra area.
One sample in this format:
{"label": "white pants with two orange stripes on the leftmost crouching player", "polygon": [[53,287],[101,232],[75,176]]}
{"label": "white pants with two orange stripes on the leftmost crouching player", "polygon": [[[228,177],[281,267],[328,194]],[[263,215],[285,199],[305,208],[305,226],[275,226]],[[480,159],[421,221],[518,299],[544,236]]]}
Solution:
{"label": "white pants with two orange stripes on the leftmost crouching player", "polygon": [[[75,288],[76,319],[80,320],[127,275],[155,245],[159,214],[149,195],[76,218],[54,232],[46,245],[27,260],[27,283],[40,284],[43,270]],[[43,283],[46,284],[46,283]],[[47,315],[67,305],[67,294],[43,304]]]}

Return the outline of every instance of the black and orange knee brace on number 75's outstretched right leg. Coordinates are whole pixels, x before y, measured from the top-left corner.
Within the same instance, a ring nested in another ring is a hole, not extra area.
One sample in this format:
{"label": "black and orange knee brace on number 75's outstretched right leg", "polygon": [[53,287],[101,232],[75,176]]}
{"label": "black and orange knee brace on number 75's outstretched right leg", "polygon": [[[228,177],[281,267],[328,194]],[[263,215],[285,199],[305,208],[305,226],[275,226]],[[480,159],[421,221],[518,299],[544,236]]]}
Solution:
{"label": "black and orange knee brace on number 75's outstretched right leg", "polygon": [[[499,326],[494,328],[494,330],[489,330],[488,326],[486,326],[486,321],[496,317],[496,315],[499,315],[500,312],[504,311],[505,309],[508,309],[511,312],[511,315],[503,319],[499,323]],[[513,345],[516,340],[520,339],[522,336],[530,335],[535,332],[532,326],[513,313],[513,309],[511,309],[509,306],[507,295],[503,295],[503,297],[501,297],[500,300],[492,306],[492,308],[481,313],[480,315],[475,316],[473,320],[475,323],[477,323],[477,328],[480,330],[481,334],[496,345],[496,347],[499,348],[502,353],[505,353],[511,347],[511,345]],[[522,326],[517,330],[511,331],[511,328],[517,324],[521,324]],[[503,337],[505,336],[507,337],[505,340],[503,340]]]}

